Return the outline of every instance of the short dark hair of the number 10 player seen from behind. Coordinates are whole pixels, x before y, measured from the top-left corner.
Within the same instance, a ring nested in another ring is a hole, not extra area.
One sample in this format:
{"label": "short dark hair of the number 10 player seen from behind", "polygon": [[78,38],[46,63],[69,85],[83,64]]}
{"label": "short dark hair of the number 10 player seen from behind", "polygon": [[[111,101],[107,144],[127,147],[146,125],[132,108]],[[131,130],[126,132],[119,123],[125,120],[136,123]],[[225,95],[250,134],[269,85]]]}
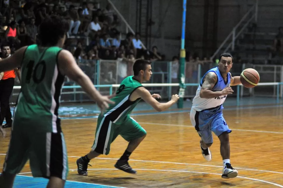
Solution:
{"label": "short dark hair of the number 10 player seen from behind", "polygon": [[69,30],[69,24],[65,19],[57,15],[47,17],[39,25],[39,40],[43,46],[55,46],[60,38]]}

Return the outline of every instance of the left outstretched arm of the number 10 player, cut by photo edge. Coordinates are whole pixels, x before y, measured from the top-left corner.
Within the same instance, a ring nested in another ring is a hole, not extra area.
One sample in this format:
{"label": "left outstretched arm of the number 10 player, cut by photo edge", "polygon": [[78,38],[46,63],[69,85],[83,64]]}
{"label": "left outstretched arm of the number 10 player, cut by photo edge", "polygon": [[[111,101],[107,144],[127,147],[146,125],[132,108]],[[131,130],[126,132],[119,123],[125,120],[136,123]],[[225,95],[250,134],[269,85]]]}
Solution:
{"label": "left outstretched arm of the number 10 player, cut by photo edge", "polygon": [[0,60],[0,72],[5,72],[8,70],[13,70],[21,66],[22,58],[24,56],[27,46],[18,49],[9,58]]}

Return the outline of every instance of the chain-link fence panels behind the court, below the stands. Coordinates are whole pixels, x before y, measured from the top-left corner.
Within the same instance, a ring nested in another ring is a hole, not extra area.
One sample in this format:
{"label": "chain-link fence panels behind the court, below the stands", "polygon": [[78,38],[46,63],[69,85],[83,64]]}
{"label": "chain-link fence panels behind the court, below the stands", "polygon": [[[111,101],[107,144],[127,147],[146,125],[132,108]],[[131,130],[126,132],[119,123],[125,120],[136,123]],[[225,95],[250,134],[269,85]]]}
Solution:
{"label": "chain-link fence panels behind the court, below the stands", "polygon": [[[123,59],[118,60],[81,60],[78,61],[79,67],[85,72],[94,85],[120,84],[121,81],[133,75],[133,63]],[[177,61],[156,61],[152,62],[152,72],[150,81],[146,83],[179,83],[179,62]],[[200,83],[203,75],[216,66],[215,63],[189,63],[185,64],[185,82]],[[232,76],[239,76],[245,68],[254,68],[260,75],[260,82],[281,82],[283,80],[283,68],[281,65],[252,65],[234,63],[231,69]],[[15,86],[19,86],[19,82],[15,80]],[[76,86],[74,81],[65,79],[64,86]],[[172,94],[178,93],[178,86],[154,86],[146,87],[151,93],[159,93],[163,98],[170,98]],[[195,96],[198,86],[187,86],[185,97],[191,98]],[[237,94],[237,87],[232,86],[234,94]],[[103,95],[110,94],[110,87],[97,87]],[[113,88],[112,92],[116,92],[117,88]],[[280,91],[283,88],[281,86]],[[11,96],[11,103],[15,103],[18,97],[19,89],[14,89]],[[283,93],[283,91],[281,92]],[[260,86],[254,89],[244,88],[240,94],[247,96],[254,95],[276,95],[276,86]],[[232,95],[232,96],[233,96]],[[83,102],[90,101],[89,97],[81,88],[64,88],[62,89],[61,102]]]}

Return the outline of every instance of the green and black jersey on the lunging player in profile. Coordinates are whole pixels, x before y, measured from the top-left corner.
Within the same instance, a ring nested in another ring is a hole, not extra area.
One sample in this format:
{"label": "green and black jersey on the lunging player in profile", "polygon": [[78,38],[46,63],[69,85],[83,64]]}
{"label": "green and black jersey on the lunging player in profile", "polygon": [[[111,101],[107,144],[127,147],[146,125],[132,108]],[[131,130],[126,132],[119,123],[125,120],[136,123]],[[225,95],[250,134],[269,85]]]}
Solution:
{"label": "green and black jersey on the lunging player in profile", "polygon": [[104,113],[104,117],[108,116],[113,123],[123,123],[128,114],[130,114],[134,107],[138,104],[141,98],[130,101],[130,95],[142,84],[133,78],[133,76],[126,77],[120,84],[120,87],[116,91],[116,96],[111,100],[115,104],[110,104],[109,108]]}

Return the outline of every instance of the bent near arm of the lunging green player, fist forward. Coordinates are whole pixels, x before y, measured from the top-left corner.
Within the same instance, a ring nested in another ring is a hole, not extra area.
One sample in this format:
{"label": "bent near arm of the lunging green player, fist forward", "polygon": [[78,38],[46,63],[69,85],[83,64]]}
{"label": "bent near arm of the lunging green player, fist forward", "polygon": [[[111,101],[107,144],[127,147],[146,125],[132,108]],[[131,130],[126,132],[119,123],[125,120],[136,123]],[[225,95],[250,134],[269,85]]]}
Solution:
{"label": "bent near arm of the lunging green player, fist forward", "polygon": [[179,99],[178,95],[172,95],[172,99],[170,101],[165,103],[160,103],[155,98],[153,98],[150,92],[144,87],[139,87],[134,92],[137,93],[139,97],[141,97],[146,103],[150,104],[156,111],[159,112],[167,110],[173,104],[175,104]]}

